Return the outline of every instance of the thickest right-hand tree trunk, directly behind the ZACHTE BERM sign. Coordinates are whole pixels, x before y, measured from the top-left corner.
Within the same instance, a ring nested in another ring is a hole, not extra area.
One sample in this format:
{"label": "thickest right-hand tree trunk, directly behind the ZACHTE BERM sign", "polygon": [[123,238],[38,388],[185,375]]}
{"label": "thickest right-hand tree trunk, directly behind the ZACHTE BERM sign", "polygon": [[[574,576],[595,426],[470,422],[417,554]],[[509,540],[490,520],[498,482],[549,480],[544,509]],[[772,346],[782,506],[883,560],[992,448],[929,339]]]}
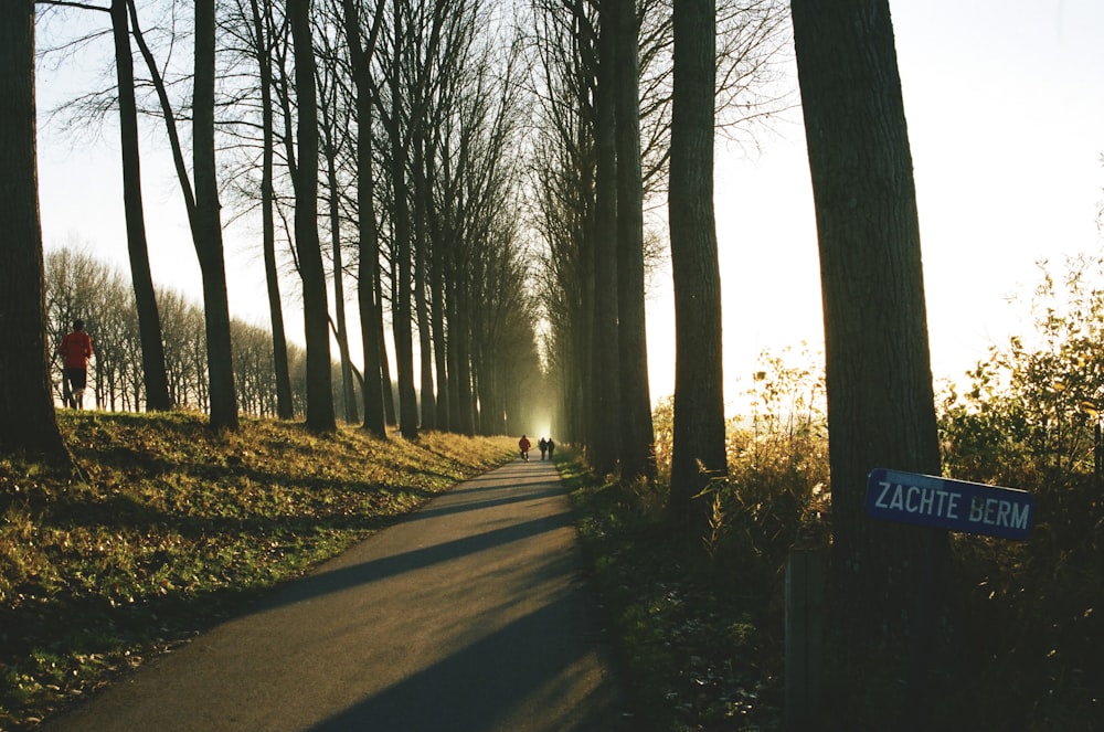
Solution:
{"label": "thickest right-hand tree trunk, directly behind the ZACHTE BERM sign", "polygon": [[889,650],[879,672],[903,678],[910,699],[872,724],[921,729],[937,704],[925,686],[936,634],[953,625],[947,533],[863,508],[871,469],[941,469],[893,26],[887,0],[793,0],[792,12],[820,245],[840,648]]}

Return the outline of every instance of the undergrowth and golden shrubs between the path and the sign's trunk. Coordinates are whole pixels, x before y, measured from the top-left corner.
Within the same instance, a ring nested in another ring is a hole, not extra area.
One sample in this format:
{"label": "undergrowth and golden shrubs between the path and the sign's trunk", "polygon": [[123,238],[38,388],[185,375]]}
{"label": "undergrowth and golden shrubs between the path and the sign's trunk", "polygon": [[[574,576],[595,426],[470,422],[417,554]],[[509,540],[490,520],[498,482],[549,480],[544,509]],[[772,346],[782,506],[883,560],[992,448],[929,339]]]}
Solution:
{"label": "undergrowth and golden shrubs between the path and the sign's trunk", "polygon": [[[827,436],[816,372],[779,359],[764,369],[754,416],[729,425],[730,479],[700,498],[712,506],[701,541],[668,523],[669,402],[656,412],[657,485],[561,466],[641,730],[784,726],[786,556],[826,541]],[[779,400],[799,416],[778,420]]]}

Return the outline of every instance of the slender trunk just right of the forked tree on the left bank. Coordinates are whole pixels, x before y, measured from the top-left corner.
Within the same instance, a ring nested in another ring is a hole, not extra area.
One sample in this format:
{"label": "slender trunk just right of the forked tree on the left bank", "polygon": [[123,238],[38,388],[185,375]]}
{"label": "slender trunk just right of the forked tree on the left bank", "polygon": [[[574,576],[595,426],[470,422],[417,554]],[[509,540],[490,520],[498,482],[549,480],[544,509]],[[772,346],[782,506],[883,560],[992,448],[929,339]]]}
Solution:
{"label": "slender trunk just right of the forked tree on the left bank", "polygon": [[291,378],[287,364],[287,336],[284,332],[284,306],[279,296],[279,269],[276,266],[276,223],[273,214],[275,192],[274,125],[273,125],[273,60],[270,24],[262,14],[258,0],[251,0],[254,34],[256,36],[257,66],[261,74],[262,168],[261,168],[261,222],[264,240],[265,283],[268,293],[268,317],[272,322],[273,363],[276,372],[276,416],[290,420],[295,416],[291,401]]}

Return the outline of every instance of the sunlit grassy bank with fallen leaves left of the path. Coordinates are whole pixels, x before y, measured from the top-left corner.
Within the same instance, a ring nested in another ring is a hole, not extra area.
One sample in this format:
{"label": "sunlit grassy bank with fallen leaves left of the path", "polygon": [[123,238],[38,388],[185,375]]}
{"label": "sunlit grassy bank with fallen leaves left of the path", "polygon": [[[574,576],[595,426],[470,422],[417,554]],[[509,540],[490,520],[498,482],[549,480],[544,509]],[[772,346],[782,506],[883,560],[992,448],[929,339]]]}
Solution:
{"label": "sunlit grassy bank with fallen leaves left of the path", "polygon": [[513,457],[512,438],[194,414],[64,412],[79,478],[0,457],[0,729],[242,612],[274,586]]}

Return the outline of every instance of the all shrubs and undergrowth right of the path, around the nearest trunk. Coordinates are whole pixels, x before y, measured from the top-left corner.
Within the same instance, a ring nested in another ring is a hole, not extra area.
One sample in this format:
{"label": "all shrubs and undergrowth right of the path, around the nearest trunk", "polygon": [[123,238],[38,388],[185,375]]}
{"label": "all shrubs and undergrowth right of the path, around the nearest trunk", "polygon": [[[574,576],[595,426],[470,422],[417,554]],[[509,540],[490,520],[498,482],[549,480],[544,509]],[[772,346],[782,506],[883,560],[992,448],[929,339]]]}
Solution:
{"label": "all shrubs and undergrowth right of the path, around the nearest trunk", "polygon": [[[1043,267],[1036,332],[995,344],[965,386],[944,384],[944,475],[1028,490],[1037,516],[1025,541],[952,534],[958,627],[933,729],[1101,729],[1104,293],[1092,283],[1102,282],[1104,259],[1072,259],[1063,278]],[[702,497],[713,509],[703,542],[680,541],[664,511],[669,404],[656,414],[656,486],[581,468],[567,477],[643,717],[658,730],[782,729],[787,554],[830,542],[820,370],[795,361],[821,359],[764,356],[754,374],[750,416],[729,426],[729,479]],[[837,706],[840,724],[827,729],[871,729],[877,706],[900,699],[879,669],[850,671],[871,691]],[[830,667],[829,691],[839,672]]]}

